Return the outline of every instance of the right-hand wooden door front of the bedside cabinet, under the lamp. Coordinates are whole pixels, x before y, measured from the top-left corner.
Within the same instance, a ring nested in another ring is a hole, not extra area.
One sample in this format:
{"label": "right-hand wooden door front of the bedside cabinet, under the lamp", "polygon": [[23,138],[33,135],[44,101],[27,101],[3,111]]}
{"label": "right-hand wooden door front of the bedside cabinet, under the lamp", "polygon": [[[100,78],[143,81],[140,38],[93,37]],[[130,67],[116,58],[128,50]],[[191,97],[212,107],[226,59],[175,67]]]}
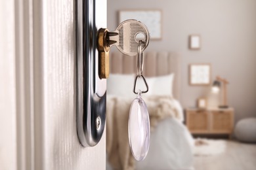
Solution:
{"label": "right-hand wooden door front of the bedside cabinet, under the lamp", "polygon": [[228,133],[232,131],[232,116],[233,115],[231,111],[211,111],[211,131],[219,133]]}

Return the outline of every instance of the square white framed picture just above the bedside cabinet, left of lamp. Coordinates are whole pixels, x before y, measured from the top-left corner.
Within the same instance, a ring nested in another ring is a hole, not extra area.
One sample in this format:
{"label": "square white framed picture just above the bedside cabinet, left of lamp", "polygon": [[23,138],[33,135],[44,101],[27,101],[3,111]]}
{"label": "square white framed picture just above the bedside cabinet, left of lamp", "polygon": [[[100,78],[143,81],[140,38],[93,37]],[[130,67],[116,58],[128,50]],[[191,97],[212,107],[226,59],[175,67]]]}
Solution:
{"label": "square white framed picture just above the bedside cabinet, left of lamp", "polygon": [[190,85],[209,85],[211,82],[210,64],[190,64],[189,65],[189,84]]}

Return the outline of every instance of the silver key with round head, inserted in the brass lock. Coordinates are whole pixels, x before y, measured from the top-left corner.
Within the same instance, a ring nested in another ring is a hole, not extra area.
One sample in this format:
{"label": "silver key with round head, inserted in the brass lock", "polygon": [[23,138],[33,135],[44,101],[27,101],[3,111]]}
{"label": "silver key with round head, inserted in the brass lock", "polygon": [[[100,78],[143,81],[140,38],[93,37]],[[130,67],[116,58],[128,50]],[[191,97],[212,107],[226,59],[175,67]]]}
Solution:
{"label": "silver key with round head, inserted in the brass lock", "polygon": [[138,54],[139,41],[143,42],[142,52],[148,46],[150,35],[146,25],[137,20],[125,20],[116,29],[107,33],[109,46],[115,45],[117,49],[128,56]]}

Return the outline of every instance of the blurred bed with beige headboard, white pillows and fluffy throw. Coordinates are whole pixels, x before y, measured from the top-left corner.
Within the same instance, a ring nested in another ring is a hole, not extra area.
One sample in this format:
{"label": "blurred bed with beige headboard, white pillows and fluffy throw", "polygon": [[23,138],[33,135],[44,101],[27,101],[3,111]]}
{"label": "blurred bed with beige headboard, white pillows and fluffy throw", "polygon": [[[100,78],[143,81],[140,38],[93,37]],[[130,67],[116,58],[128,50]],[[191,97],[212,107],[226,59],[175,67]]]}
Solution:
{"label": "blurred bed with beige headboard, white pillows and fluffy throw", "polygon": [[110,55],[107,169],[193,169],[193,139],[183,124],[179,103],[180,59],[175,52],[144,55],[143,75],[150,90],[142,97],[150,114],[150,148],[144,161],[135,161],[129,150],[128,118],[129,107],[136,97],[133,80],[137,73],[137,57],[123,56],[119,52]]}

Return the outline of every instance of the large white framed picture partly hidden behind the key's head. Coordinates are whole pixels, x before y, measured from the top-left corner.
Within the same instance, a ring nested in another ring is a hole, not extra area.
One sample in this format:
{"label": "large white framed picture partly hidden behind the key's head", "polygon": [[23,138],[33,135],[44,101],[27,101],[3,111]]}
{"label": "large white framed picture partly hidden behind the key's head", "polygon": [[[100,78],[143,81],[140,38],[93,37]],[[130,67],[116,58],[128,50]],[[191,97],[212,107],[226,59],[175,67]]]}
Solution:
{"label": "large white framed picture partly hidden behind the key's head", "polygon": [[151,39],[161,39],[161,10],[120,10],[119,23],[134,19],[148,27]]}

